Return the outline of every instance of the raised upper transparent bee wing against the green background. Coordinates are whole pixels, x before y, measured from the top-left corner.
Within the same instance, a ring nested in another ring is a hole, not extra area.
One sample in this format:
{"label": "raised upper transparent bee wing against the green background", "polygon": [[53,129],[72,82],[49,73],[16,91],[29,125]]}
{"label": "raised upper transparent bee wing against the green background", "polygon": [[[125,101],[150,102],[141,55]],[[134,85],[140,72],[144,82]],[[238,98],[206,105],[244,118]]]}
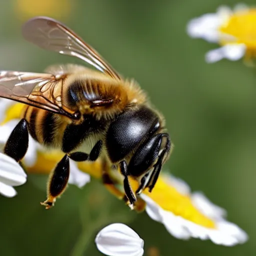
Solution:
{"label": "raised upper transparent bee wing against the green background", "polygon": [[24,38],[37,46],[78,57],[98,70],[120,79],[118,73],[70,28],[49,17],[34,17],[22,27]]}

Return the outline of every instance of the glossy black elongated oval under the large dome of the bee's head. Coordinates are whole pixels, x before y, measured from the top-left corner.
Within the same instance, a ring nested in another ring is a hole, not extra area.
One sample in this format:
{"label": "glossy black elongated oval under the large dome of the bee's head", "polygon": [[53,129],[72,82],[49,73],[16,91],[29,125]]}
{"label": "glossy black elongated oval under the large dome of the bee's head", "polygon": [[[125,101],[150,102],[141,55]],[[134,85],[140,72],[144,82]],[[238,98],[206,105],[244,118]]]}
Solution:
{"label": "glossy black elongated oval under the large dome of the bee's head", "polygon": [[136,150],[129,161],[129,175],[140,176],[149,169],[158,156],[161,139],[161,133],[155,134]]}

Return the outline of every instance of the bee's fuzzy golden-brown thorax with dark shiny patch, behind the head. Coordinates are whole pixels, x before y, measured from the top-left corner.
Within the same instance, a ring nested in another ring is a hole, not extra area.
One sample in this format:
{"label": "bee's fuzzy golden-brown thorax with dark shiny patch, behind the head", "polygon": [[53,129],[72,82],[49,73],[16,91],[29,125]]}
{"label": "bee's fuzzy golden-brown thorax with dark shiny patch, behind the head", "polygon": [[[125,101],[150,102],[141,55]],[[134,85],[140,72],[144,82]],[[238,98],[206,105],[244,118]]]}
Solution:
{"label": "bee's fuzzy golden-brown thorax with dark shiny patch, behind the head", "polygon": [[145,95],[134,81],[116,80],[98,71],[80,71],[63,82],[62,104],[90,113],[95,118],[109,119],[134,103],[145,101]]}

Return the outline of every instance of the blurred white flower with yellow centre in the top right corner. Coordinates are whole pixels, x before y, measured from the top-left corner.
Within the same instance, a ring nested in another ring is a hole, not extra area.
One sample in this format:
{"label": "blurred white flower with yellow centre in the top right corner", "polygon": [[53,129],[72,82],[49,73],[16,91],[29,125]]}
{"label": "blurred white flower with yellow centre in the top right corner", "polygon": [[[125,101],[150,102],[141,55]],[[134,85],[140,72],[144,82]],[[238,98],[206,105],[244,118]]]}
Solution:
{"label": "blurred white flower with yellow centre in the top right corner", "polygon": [[256,53],[256,8],[245,4],[237,4],[233,10],[220,6],[215,13],[190,20],[187,33],[221,45],[205,54],[207,62],[238,60],[244,55],[249,59]]}

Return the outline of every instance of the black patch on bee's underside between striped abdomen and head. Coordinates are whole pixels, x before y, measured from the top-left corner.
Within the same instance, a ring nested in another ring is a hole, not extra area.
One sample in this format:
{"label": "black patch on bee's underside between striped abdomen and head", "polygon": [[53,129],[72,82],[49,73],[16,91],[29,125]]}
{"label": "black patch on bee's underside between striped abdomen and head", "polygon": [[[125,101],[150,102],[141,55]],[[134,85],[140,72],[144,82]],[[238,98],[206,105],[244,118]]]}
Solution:
{"label": "black patch on bee's underside between striped abdomen and head", "polygon": [[91,134],[102,131],[105,122],[96,120],[92,115],[83,115],[84,120],[80,124],[69,124],[66,126],[62,138],[62,151],[72,151],[79,143]]}

